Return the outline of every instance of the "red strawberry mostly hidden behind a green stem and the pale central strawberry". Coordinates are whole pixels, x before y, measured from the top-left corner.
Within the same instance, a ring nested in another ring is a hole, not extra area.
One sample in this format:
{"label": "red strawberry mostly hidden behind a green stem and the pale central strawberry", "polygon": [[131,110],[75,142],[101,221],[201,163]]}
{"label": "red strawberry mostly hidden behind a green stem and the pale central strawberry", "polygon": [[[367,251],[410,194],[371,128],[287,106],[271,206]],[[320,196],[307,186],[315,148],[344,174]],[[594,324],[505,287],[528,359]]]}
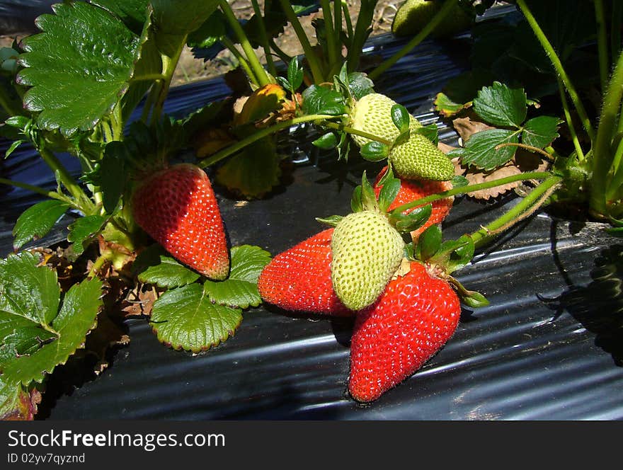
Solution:
{"label": "red strawberry mostly hidden behind a green stem and the pale central strawberry", "polygon": [[[377,197],[379,197],[381,188],[383,188],[383,185],[379,185],[379,180],[385,174],[386,170],[387,166],[379,172],[377,178],[375,179],[374,189],[375,195]],[[398,192],[398,195],[396,195],[396,199],[394,199],[394,202],[389,205],[388,210],[394,210],[396,209],[396,207],[408,204],[408,202],[420,199],[421,197],[425,197],[435,193],[442,193],[442,191],[447,191],[451,189],[452,182],[450,181],[406,180],[400,178],[400,190]],[[411,231],[411,237],[413,238],[413,240],[418,239],[422,232],[425,231],[425,229],[428,229],[428,227],[430,227],[431,225],[440,224],[443,219],[445,219],[448,212],[450,212],[450,209],[452,208],[452,202],[454,202],[454,200],[454,197],[447,197],[445,199],[433,201],[433,212],[430,213],[428,221],[419,229]],[[413,209],[416,209],[416,207],[413,207]]]}

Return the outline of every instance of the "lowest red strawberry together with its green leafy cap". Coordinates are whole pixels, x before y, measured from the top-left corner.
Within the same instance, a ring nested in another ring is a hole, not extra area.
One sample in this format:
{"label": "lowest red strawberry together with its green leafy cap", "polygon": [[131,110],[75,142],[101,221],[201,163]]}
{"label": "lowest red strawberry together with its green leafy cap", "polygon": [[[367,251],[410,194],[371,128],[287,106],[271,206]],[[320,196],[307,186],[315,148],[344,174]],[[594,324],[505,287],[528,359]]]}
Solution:
{"label": "lowest red strawberry together with its green leafy cap", "polygon": [[360,402],[379,399],[435,355],[457,329],[461,302],[488,304],[450,276],[474,254],[469,236],[442,242],[433,225],[409,248],[408,265],[355,320],[348,390]]}

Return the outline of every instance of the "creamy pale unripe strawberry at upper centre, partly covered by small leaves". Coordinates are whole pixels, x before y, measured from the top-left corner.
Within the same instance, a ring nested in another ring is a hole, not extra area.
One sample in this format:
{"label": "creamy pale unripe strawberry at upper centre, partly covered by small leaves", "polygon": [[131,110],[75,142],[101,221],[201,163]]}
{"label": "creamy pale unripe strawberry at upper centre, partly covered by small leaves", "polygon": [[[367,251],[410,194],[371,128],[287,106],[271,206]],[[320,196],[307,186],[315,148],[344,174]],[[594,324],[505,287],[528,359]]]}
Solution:
{"label": "creamy pale unripe strawberry at upper centre, partly covered by small leaves", "polygon": [[[394,125],[394,121],[391,120],[390,111],[395,104],[397,104],[396,101],[381,93],[370,93],[362,96],[350,110],[350,127],[363,132],[370,132],[370,134],[375,134],[382,139],[394,142],[394,139],[398,137],[399,130]],[[421,127],[421,124],[415,117],[409,115],[409,127],[417,129]],[[372,142],[366,137],[350,135],[359,147]]]}

